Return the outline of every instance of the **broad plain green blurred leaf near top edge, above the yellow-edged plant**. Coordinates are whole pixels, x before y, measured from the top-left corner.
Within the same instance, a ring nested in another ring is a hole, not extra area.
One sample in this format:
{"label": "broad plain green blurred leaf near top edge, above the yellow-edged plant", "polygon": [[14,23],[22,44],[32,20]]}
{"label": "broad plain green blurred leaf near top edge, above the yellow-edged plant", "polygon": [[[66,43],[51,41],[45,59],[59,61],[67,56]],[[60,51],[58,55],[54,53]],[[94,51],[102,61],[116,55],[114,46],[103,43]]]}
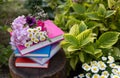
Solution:
{"label": "broad plain green blurred leaf near top edge, above the yellow-edged plant", "polygon": [[86,10],[86,8],[83,5],[78,4],[78,3],[73,3],[72,8],[78,14],[83,14]]}

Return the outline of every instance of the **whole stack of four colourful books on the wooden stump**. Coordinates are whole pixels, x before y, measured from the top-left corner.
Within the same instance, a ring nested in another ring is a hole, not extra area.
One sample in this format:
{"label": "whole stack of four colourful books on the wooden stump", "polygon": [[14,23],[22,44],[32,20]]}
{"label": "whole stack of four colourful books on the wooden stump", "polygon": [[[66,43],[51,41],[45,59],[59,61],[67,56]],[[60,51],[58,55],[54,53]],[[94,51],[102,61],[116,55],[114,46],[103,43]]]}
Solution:
{"label": "whole stack of four colourful books on the wooden stump", "polygon": [[14,50],[16,67],[48,68],[50,59],[61,49],[59,43],[63,40],[64,32],[52,21],[44,21],[49,40],[30,47],[17,45]]}

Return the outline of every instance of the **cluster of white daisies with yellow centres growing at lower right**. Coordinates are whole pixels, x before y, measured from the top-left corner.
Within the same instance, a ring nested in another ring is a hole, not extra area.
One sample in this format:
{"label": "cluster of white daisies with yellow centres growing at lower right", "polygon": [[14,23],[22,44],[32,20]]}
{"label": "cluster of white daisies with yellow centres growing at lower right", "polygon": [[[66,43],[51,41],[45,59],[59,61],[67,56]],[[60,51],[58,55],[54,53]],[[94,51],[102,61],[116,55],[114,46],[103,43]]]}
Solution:
{"label": "cluster of white daisies with yellow centres growing at lower right", "polygon": [[120,65],[116,64],[114,57],[101,57],[98,61],[83,63],[84,74],[74,78],[120,78]]}

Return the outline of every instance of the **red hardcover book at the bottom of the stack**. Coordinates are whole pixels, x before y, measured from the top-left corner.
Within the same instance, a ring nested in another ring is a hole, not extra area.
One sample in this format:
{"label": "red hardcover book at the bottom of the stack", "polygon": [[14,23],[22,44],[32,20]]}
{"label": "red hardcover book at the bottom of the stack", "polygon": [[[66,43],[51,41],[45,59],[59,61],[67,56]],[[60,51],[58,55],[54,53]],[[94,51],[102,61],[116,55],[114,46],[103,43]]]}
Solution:
{"label": "red hardcover book at the bottom of the stack", "polygon": [[16,67],[48,68],[48,64],[49,62],[46,62],[44,65],[41,65],[26,57],[18,57],[15,60]]}

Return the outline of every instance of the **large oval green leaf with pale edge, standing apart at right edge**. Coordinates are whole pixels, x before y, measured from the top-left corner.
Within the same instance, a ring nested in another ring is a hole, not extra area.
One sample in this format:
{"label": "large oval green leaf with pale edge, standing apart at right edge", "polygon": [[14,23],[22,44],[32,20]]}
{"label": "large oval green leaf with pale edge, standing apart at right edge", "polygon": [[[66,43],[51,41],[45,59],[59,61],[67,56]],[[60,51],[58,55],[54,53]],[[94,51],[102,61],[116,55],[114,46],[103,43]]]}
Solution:
{"label": "large oval green leaf with pale edge, standing apart at right edge", "polygon": [[99,37],[97,45],[99,46],[99,48],[109,48],[118,41],[118,36],[119,36],[118,32],[103,33]]}

